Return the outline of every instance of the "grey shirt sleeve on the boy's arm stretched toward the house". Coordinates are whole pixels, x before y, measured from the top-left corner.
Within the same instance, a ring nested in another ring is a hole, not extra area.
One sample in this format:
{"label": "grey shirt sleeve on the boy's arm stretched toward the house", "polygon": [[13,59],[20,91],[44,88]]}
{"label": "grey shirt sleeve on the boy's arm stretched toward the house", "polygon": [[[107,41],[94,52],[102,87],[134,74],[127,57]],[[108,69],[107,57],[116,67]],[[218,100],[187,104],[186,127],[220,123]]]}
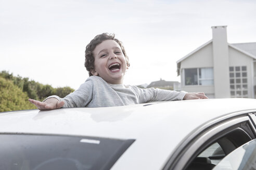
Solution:
{"label": "grey shirt sleeve on the boy's arm stretched toward the house", "polygon": [[138,92],[140,103],[183,100],[187,93],[185,91],[163,90],[158,88],[137,88],[136,91]]}

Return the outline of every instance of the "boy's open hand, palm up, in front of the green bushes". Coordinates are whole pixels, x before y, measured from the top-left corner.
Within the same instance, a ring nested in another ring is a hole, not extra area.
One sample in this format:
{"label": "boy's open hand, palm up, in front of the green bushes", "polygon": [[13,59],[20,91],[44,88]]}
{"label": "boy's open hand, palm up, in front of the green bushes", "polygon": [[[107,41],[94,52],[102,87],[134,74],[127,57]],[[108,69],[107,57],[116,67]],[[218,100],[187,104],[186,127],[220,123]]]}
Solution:
{"label": "boy's open hand, palm up, in front of the green bushes", "polygon": [[62,107],[65,102],[60,102],[57,100],[57,98],[48,98],[44,102],[36,101],[31,98],[29,98],[29,101],[34,104],[39,110],[52,110],[52,109],[58,109]]}

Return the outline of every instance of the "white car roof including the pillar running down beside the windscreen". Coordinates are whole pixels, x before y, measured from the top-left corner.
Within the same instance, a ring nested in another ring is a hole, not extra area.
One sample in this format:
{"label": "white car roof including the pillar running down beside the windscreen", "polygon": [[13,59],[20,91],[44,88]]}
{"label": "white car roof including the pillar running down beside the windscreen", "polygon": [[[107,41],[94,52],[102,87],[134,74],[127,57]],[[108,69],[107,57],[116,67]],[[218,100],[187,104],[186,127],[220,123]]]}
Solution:
{"label": "white car roof including the pillar running down beside the windscreen", "polygon": [[[0,133],[135,139],[132,149],[129,148],[127,154],[132,155],[138,150],[142,153],[148,152],[150,148],[150,152],[155,154],[152,157],[157,155],[155,159],[158,160],[155,162],[159,162],[158,166],[154,164],[148,168],[158,169],[162,165],[162,160],[167,161],[170,152],[197,127],[243,111],[256,111],[256,100],[224,98],[103,108],[22,110],[0,113]],[[136,154],[139,157],[140,153]],[[146,158],[134,158],[133,161],[134,165],[136,161],[138,164],[143,161],[146,163]]]}

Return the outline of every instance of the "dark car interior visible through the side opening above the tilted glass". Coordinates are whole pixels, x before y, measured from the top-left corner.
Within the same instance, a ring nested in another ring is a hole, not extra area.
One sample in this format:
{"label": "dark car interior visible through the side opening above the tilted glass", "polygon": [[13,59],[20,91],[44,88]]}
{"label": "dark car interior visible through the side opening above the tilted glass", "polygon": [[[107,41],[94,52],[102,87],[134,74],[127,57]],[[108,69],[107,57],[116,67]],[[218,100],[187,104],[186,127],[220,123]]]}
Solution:
{"label": "dark car interior visible through the side opening above the tilted glass", "polygon": [[247,122],[240,123],[229,130],[217,134],[214,141],[208,141],[201,152],[187,165],[186,170],[213,169],[227,154],[255,138]]}

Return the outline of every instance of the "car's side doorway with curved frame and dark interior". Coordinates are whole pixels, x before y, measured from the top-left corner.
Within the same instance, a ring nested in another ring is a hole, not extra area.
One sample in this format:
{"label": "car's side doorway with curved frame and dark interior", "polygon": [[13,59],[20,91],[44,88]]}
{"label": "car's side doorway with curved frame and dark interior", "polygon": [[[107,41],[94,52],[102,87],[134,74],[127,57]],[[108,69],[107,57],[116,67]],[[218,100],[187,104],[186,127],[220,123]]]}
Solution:
{"label": "car's side doorway with curved frame and dark interior", "polygon": [[181,142],[163,169],[213,169],[255,139],[255,119],[253,111],[240,111],[204,123]]}

